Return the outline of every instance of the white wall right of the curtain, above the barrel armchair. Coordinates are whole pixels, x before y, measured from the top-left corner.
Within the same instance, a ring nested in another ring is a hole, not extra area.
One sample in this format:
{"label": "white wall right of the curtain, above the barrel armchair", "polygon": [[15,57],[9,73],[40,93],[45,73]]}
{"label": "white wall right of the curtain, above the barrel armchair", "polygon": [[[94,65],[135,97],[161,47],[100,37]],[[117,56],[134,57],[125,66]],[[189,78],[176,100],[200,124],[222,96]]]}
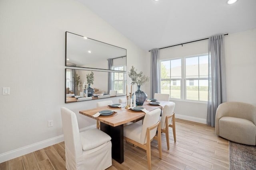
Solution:
{"label": "white wall right of the curtain, above the barrel armchair", "polygon": [[256,28],[225,37],[227,101],[256,106]]}

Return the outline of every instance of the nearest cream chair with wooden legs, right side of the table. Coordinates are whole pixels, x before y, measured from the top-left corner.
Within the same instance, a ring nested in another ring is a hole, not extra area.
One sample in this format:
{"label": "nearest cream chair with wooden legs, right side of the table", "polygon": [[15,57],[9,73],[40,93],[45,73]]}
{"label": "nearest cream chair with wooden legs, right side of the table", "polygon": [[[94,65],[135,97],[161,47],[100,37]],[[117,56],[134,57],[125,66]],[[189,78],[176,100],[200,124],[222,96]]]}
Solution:
{"label": "nearest cream chair with wooden legs, right side of the table", "polygon": [[161,133],[156,135],[156,130],[161,131],[159,116],[161,109],[155,109],[146,113],[143,124],[132,123],[124,127],[124,140],[145,149],[147,152],[148,169],[151,170],[151,146],[153,139],[158,140],[159,157],[162,159]]}

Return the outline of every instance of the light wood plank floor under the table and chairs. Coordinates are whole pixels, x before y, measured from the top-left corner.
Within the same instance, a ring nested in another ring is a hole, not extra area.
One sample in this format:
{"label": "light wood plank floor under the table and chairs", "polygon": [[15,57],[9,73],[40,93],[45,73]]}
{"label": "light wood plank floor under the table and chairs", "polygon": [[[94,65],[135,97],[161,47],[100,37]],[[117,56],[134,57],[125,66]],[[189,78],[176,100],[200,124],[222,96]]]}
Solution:
{"label": "light wood plank floor under the table and chairs", "polygon": [[[162,160],[157,142],[152,141],[153,170],[228,170],[228,141],[218,137],[214,128],[176,119],[176,143],[170,129],[170,150],[162,134]],[[0,170],[65,170],[64,142],[37,150],[0,164]],[[146,151],[124,142],[124,162],[112,160],[108,170],[146,170]]]}

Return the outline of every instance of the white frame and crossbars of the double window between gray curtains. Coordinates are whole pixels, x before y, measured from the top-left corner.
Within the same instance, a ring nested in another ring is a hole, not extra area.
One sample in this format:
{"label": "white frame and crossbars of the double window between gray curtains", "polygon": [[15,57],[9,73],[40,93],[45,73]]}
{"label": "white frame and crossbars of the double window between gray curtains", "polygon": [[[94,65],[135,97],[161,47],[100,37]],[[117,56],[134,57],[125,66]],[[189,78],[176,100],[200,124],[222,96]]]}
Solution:
{"label": "white frame and crossbars of the double window between gray curtains", "polygon": [[[179,57],[179,58],[171,58],[171,59],[163,59],[159,61],[159,72],[160,72],[160,79],[159,79],[159,83],[161,86],[161,81],[162,80],[180,80],[180,99],[176,99],[176,98],[170,98],[170,100],[178,100],[178,101],[186,101],[186,102],[196,102],[196,103],[207,103],[208,101],[201,101],[199,100],[199,80],[208,80],[207,78],[186,78],[186,58],[191,58],[191,57],[199,57],[200,56],[208,56],[208,53],[205,54],[200,54],[200,55],[191,55],[191,56],[185,56],[185,57]],[[161,79],[161,62],[162,61],[172,61],[172,60],[177,60],[177,59],[181,59],[181,78],[164,78]],[[198,67],[199,67],[199,62],[198,62]],[[199,75],[199,68],[198,68],[198,75]],[[198,100],[188,100],[186,99],[186,80],[198,80]],[[171,83],[170,83],[171,84]],[[160,88],[160,93],[161,93],[161,88]],[[171,96],[170,96],[171,97]]]}

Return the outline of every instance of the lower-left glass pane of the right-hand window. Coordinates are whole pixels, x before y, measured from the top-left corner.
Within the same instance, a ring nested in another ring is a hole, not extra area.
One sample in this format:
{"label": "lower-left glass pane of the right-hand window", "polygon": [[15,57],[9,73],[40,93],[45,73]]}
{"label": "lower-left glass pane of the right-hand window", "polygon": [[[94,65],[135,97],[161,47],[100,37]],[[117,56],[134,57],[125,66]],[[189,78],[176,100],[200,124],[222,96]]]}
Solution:
{"label": "lower-left glass pane of the right-hand window", "polygon": [[191,80],[186,80],[186,99],[199,100],[198,98],[198,80],[193,80],[194,86],[190,86]]}

